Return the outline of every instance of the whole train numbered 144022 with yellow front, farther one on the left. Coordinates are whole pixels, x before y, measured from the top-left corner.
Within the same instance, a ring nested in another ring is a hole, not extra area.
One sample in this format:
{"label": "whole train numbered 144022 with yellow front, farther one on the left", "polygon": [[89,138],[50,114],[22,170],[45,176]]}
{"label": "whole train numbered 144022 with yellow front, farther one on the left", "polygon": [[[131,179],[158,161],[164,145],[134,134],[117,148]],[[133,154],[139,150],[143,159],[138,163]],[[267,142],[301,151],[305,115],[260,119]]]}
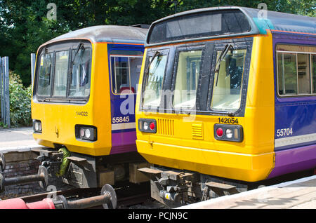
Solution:
{"label": "whole train numbered 144022 with yellow front, farther one on the left", "polygon": [[55,163],[65,182],[114,184],[128,177],[129,163],[143,161],[134,106],[146,34],[140,27],[96,26],[39,47],[33,135],[46,146],[39,151],[44,165]]}

